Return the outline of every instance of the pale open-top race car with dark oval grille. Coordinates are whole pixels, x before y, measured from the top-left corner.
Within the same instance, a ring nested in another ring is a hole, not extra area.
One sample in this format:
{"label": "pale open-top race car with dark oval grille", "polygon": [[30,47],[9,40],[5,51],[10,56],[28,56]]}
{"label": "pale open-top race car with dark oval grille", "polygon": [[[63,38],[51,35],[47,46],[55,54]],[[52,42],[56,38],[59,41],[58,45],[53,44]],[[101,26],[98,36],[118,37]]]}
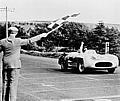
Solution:
{"label": "pale open-top race car with dark oval grille", "polygon": [[64,53],[58,59],[61,70],[75,68],[77,71],[84,72],[86,70],[107,70],[114,73],[119,65],[119,60],[113,54],[97,54],[95,50],[86,50],[85,52]]}

